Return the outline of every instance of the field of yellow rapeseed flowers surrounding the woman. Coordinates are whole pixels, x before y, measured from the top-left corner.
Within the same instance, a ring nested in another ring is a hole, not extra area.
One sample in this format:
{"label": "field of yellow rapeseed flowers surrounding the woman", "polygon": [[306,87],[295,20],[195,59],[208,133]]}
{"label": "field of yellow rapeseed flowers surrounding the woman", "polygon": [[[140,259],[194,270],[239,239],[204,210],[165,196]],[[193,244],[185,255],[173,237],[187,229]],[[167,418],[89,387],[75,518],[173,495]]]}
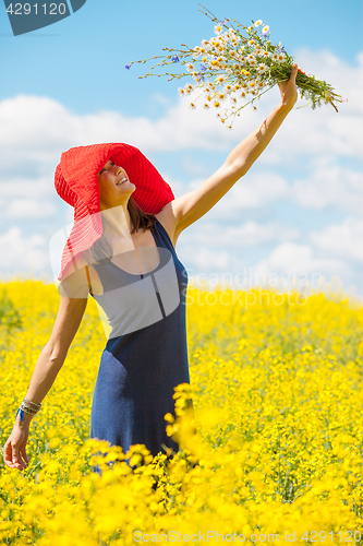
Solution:
{"label": "field of yellow rapeseed flowers surrounding the woman", "polygon": [[[135,446],[133,470],[120,448],[89,440],[106,345],[89,298],[32,420],[28,467],[1,462],[1,544],[360,542],[363,307],[256,294],[189,288],[191,385],[177,389],[177,420],[166,419],[182,449],[168,461]],[[1,446],[58,305],[52,284],[0,284]]]}

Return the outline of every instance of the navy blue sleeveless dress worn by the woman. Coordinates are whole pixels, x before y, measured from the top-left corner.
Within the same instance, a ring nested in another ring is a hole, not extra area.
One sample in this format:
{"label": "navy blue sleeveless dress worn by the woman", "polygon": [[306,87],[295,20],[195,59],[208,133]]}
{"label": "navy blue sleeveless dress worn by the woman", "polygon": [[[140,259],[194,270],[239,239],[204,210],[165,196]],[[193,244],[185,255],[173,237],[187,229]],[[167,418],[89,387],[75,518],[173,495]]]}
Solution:
{"label": "navy blue sleeveless dress worn by the woman", "polygon": [[112,331],[102,352],[90,414],[90,438],[121,446],[144,443],[153,455],[178,443],[164,416],[174,416],[174,387],[189,383],[185,324],[187,273],[168,233],[152,228],[158,266],[131,274],[112,262],[94,264],[104,287],[93,295]]}

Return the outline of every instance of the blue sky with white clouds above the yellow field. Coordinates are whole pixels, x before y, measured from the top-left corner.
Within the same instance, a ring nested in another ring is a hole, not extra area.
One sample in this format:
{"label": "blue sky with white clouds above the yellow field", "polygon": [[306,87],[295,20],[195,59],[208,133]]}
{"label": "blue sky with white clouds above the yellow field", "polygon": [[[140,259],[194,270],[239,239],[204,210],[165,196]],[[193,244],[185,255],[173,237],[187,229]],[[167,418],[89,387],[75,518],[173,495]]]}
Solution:
{"label": "blue sky with white clouds above the yellow field", "polygon": [[[218,17],[262,19],[307,73],[348,103],[294,109],[230,194],[180,237],[190,275],[241,273],[339,276],[363,297],[363,168],[360,127],[362,2],[210,0]],[[87,0],[72,16],[14,37],[0,16],[0,270],[51,274],[48,244],[72,211],[53,189],[62,151],[94,142],[137,145],[176,195],[202,183],[277,106],[278,90],[228,131],[213,112],[192,111],[180,82],[140,80],[124,64],[195,46],[214,24],[197,2]],[[184,82],[185,83],[185,82]],[[299,100],[297,106],[305,104]]]}

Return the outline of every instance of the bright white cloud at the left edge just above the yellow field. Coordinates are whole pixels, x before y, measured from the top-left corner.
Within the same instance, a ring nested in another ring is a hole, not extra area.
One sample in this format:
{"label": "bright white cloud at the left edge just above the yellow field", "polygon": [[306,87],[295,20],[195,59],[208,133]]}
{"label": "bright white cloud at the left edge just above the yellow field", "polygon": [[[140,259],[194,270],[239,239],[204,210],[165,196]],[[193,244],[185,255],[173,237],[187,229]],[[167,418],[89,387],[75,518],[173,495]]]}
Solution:
{"label": "bright white cloud at the left edge just above the yellow field", "polygon": [[48,270],[49,252],[41,235],[23,236],[11,227],[0,236],[0,269],[2,271]]}

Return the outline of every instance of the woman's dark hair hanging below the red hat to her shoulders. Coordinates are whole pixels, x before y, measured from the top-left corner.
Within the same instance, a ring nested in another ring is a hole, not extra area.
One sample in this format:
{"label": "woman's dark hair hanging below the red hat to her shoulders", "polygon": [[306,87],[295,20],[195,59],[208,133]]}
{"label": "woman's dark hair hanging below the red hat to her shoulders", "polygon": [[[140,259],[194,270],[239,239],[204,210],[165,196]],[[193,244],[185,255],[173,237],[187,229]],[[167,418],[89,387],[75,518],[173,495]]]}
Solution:
{"label": "woman's dark hair hanging below the red hat to her shoulders", "polygon": [[[132,195],[128,202],[128,211],[132,223],[132,234],[138,232],[140,229],[144,229],[144,232],[146,232],[146,229],[152,229],[154,227],[154,214],[144,212]],[[90,248],[83,251],[83,256],[88,265],[98,263],[102,260],[109,262],[112,257],[112,248],[105,235],[101,235],[101,237],[97,239]]]}

